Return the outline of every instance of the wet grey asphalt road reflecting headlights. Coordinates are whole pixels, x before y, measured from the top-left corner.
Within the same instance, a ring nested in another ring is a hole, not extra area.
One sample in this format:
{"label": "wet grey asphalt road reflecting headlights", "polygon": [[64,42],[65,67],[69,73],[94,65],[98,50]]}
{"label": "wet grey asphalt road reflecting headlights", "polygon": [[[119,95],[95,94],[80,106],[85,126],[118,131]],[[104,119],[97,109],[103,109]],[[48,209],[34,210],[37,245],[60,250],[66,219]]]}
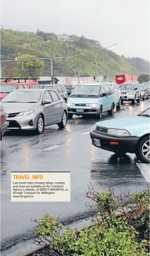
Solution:
{"label": "wet grey asphalt road reflecting headlights", "polygon": [[[150,101],[135,106],[126,102],[114,116],[104,114],[102,121],[136,115],[149,107]],[[102,188],[113,186],[116,192],[135,192],[146,187],[145,179],[134,164],[135,155],[126,154],[118,159],[114,153],[91,145],[90,135],[96,119],[74,116],[66,128],[57,125],[45,129],[41,135],[28,132],[7,131],[1,141],[1,249],[32,237],[34,223],[30,218],[40,218],[49,212],[66,220],[88,216],[85,203],[87,184]],[[85,133],[85,134],[83,134]],[[59,147],[44,151],[44,149]],[[11,202],[11,171],[71,171],[71,202],[16,203]],[[69,222],[69,221],[68,221]]]}

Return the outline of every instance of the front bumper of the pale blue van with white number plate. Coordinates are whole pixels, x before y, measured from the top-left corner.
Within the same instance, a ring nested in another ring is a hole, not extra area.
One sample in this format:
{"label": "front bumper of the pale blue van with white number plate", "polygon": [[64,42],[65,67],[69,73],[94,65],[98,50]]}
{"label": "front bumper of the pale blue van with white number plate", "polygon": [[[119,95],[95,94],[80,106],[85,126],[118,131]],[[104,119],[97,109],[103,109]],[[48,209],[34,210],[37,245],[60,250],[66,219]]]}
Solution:
{"label": "front bumper of the pale blue van with white number plate", "polygon": [[[68,107],[68,113],[74,114],[74,115],[98,115],[100,108],[99,107]],[[80,110],[84,110],[82,112],[78,112]],[[77,111],[78,110],[78,111]]]}

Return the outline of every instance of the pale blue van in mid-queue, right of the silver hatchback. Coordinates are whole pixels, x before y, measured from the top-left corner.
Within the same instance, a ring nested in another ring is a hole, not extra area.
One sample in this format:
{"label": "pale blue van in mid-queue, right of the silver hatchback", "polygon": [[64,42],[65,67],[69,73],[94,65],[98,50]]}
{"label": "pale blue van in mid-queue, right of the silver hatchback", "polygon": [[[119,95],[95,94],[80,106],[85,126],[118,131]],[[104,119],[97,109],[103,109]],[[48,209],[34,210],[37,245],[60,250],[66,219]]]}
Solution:
{"label": "pale blue van in mid-queue, right of the silver hatchback", "polygon": [[80,83],[67,99],[66,106],[68,118],[72,118],[73,115],[95,115],[102,118],[102,113],[106,111],[113,115],[114,91],[109,82]]}

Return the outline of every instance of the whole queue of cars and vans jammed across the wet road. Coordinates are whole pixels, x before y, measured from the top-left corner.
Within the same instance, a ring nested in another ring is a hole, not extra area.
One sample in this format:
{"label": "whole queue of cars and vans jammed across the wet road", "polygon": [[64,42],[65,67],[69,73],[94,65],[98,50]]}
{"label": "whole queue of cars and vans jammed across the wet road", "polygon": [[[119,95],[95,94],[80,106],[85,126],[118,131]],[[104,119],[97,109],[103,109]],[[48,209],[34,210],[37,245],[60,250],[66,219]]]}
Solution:
{"label": "whole queue of cars and vans jammed across the wet road", "polygon": [[[95,115],[101,119],[103,112],[113,115],[114,107],[120,109],[123,101],[131,101],[135,104],[136,101],[140,102],[141,98],[143,100],[149,98],[146,86],[137,82],[125,82],[119,86],[108,81],[81,83],[70,93],[69,98],[63,99],[63,95],[67,97],[66,89],[63,91],[64,86],[62,88],[58,84],[34,89],[33,81],[29,81],[19,80],[16,88],[18,90],[12,90],[9,94],[7,92],[1,99],[0,140],[6,129],[35,130],[36,134],[41,134],[44,127],[52,124],[64,128],[67,118],[72,118],[73,115]],[[24,83],[30,84],[32,90],[20,89],[20,84],[24,86]],[[13,81],[10,84],[14,86]],[[1,88],[7,87],[8,84],[1,86]],[[59,86],[61,92],[58,91]],[[149,163],[149,117],[150,108],[134,117],[97,122],[90,132],[92,144],[114,153],[135,153],[140,161]]]}

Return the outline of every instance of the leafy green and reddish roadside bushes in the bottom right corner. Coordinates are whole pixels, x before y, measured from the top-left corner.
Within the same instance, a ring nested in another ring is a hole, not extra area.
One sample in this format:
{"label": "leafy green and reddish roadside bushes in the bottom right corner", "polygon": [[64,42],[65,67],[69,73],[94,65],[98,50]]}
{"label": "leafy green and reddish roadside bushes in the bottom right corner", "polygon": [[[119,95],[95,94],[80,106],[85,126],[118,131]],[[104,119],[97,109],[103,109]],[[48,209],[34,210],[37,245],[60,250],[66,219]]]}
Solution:
{"label": "leafy green and reddish roadside bushes in the bottom right corner", "polygon": [[[50,248],[59,251],[62,256],[149,255],[148,235],[137,239],[139,226],[146,224],[145,230],[148,230],[149,188],[145,192],[134,193],[130,198],[129,193],[115,196],[112,189],[99,193],[89,186],[86,196],[96,202],[96,205],[90,206],[96,214],[91,219],[93,225],[90,228],[80,231],[71,228],[63,230],[59,218],[53,218],[47,213],[40,220],[34,220],[37,223],[35,241],[49,243]],[[131,211],[126,211],[127,198],[131,201]],[[116,211],[120,211],[121,215],[118,216]],[[136,224],[131,222],[133,219],[136,219]]]}

